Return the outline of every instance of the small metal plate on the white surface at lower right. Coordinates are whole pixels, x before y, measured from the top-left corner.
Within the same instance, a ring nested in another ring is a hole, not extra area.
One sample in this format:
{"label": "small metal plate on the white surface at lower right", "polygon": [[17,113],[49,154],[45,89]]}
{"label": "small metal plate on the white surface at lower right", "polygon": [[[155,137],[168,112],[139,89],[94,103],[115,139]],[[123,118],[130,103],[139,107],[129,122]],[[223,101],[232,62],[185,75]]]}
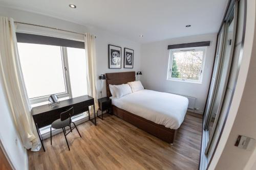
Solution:
{"label": "small metal plate on the white surface at lower right", "polygon": [[238,148],[242,148],[248,151],[251,151],[254,147],[255,139],[247,137],[247,136],[238,136],[235,146]]}

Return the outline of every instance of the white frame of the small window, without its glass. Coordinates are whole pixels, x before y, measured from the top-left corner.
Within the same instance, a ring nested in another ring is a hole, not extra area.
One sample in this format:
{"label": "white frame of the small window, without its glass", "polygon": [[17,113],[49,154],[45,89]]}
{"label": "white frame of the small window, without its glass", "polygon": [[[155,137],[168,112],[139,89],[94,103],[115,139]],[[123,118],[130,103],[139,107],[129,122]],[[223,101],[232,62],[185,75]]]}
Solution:
{"label": "white frame of the small window, without its glass", "polygon": [[[203,61],[201,64],[201,73],[199,75],[199,80],[190,80],[190,79],[181,79],[181,78],[172,78],[172,69],[173,69],[173,57],[175,52],[193,52],[193,51],[203,51]],[[204,65],[205,58],[207,53],[207,46],[200,47],[188,47],[188,48],[176,48],[169,50],[169,60],[168,60],[168,70],[167,70],[167,80],[168,81],[179,81],[179,82],[187,82],[187,83],[198,83],[202,84],[203,75],[204,75]]]}

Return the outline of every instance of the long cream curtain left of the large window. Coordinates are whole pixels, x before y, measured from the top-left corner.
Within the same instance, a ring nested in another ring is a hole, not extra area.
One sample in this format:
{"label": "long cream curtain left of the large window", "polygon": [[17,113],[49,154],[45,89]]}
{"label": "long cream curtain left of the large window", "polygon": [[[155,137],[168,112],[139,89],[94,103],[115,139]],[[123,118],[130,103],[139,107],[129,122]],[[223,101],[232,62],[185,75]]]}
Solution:
{"label": "long cream curtain left of the large window", "polygon": [[[26,149],[39,151],[38,138],[20,68],[15,26],[12,18],[0,16],[0,78],[16,130]],[[8,113],[1,113],[8,114]]]}

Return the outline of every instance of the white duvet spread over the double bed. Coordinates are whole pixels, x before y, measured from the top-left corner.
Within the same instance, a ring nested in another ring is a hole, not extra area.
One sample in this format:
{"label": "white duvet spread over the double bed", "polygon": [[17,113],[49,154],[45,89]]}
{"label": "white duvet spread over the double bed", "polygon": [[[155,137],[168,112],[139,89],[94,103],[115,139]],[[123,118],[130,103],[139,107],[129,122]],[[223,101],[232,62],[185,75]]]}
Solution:
{"label": "white duvet spread over the double bed", "polygon": [[153,90],[139,90],[111,99],[116,107],[170,129],[180,127],[188,106],[183,96]]}

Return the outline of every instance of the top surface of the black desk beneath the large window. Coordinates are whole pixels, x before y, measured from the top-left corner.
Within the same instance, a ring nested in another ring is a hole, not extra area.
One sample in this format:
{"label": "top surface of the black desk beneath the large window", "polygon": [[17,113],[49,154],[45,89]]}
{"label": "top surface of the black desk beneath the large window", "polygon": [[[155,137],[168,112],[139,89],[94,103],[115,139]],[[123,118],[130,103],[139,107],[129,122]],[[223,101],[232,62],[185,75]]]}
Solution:
{"label": "top surface of the black desk beneath the large window", "polygon": [[60,101],[58,104],[51,106],[51,105],[42,105],[42,106],[37,106],[32,108],[32,115],[40,114],[40,113],[45,113],[51,110],[71,106],[77,103],[81,103],[84,101],[91,101],[93,98],[90,95],[82,95],[77,98],[72,98],[64,101]]}

